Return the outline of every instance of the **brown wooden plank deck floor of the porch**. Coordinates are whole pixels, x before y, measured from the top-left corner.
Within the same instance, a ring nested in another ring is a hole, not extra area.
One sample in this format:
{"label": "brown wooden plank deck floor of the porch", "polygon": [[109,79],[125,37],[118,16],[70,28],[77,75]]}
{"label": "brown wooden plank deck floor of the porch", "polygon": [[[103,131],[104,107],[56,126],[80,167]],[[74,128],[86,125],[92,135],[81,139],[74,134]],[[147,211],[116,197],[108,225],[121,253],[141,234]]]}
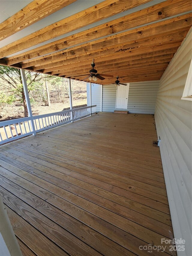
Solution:
{"label": "brown wooden plank deck floor of the porch", "polygon": [[0,147],[23,255],[175,255],[152,115],[99,113]]}

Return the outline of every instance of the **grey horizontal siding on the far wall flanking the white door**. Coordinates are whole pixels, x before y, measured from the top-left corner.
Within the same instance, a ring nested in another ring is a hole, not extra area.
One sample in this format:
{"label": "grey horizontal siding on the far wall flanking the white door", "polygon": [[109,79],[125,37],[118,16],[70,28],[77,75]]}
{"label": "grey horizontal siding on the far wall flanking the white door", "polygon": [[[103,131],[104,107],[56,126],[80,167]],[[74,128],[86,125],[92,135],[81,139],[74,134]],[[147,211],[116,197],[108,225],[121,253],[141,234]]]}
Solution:
{"label": "grey horizontal siding on the far wall flanking the white door", "polygon": [[[128,106],[129,113],[154,114],[159,81],[130,83]],[[116,85],[103,86],[103,111],[116,110]]]}

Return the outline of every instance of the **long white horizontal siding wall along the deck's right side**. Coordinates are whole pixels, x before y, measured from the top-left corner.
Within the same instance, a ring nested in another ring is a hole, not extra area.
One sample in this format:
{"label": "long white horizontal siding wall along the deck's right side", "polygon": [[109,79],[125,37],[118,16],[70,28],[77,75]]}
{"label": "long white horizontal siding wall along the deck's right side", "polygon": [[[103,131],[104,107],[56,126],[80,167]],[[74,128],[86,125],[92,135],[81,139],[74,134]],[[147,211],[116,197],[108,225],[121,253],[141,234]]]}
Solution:
{"label": "long white horizontal siding wall along the deck's right side", "polygon": [[191,252],[191,110],[192,102],[181,99],[191,62],[191,32],[178,49],[160,80],[155,107],[157,134],[169,200],[174,236],[184,239]]}

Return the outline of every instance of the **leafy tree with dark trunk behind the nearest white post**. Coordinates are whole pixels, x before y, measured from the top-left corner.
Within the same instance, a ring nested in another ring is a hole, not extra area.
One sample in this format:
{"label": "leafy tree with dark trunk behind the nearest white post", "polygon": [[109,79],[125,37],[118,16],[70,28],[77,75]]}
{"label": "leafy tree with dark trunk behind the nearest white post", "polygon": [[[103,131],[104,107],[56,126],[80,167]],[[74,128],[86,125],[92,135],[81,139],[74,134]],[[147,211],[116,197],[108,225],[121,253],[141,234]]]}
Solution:
{"label": "leafy tree with dark trunk behind the nearest white post", "polygon": [[[40,76],[40,73],[32,71],[25,71],[25,74],[28,92],[30,92],[34,87],[34,83],[40,81],[42,79],[42,76]],[[20,100],[22,100],[24,107],[24,116],[27,117],[27,103],[22,86],[20,70],[18,68],[0,66],[0,78],[6,82],[5,84],[1,84],[1,86],[4,87],[7,92],[12,92],[13,95],[17,96]]]}

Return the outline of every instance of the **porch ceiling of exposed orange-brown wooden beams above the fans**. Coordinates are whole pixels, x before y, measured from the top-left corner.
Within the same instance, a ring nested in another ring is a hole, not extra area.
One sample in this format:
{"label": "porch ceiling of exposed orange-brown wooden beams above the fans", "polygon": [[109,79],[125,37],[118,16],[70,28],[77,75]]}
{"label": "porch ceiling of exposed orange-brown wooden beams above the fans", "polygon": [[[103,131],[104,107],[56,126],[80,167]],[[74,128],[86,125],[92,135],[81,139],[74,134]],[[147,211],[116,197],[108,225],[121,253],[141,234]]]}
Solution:
{"label": "porch ceiling of exposed orange-brown wooden beams above the fans", "polygon": [[98,73],[114,76],[98,84],[159,80],[191,27],[190,0],[0,5],[0,64],[84,80],[94,58]]}

